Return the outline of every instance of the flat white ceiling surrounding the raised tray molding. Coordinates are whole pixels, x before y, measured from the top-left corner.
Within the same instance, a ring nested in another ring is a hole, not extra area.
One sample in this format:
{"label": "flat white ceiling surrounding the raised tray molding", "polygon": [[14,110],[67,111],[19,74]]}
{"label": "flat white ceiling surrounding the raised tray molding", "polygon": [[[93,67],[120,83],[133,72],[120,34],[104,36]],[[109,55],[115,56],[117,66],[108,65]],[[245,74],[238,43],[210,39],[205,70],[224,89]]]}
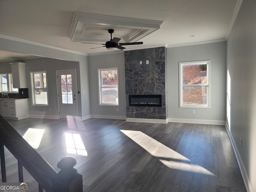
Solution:
{"label": "flat white ceiling surrounding the raised tray molding", "polygon": [[[174,47],[219,42],[228,38],[241,2],[242,0],[0,0],[0,38],[20,38],[89,55],[109,52],[105,47],[90,49],[97,45],[72,42],[69,38],[74,12],[83,12],[163,21],[160,29],[139,40],[144,42],[142,45],[124,46],[124,51],[159,45]],[[113,37],[115,34],[118,37],[121,33],[116,30]],[[99,32],[95,31],[97,33]],[[106,34],[110,35],[108,31]],[[26,55],[0,52],[0,60],[22,57]]]}

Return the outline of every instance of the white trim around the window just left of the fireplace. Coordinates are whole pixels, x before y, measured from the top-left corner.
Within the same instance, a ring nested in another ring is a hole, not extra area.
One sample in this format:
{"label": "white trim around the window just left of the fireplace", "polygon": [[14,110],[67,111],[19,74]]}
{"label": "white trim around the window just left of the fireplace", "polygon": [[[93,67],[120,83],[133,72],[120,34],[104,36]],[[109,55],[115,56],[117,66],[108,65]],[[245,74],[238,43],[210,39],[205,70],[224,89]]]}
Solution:
{"label": "white trim around the window just left of the fireplace", "polygon": [[[104,70],[117,70],[117,91],[118,91],[118,104],[106,104],[102,103],[102,87],[101,87],[101,75],[100,71]],[[99,100],[99,106],[119,106],[120,98],[119,98],[119,72],[118,67],[112,67],[112,68],[98,68],[98,100]]]}

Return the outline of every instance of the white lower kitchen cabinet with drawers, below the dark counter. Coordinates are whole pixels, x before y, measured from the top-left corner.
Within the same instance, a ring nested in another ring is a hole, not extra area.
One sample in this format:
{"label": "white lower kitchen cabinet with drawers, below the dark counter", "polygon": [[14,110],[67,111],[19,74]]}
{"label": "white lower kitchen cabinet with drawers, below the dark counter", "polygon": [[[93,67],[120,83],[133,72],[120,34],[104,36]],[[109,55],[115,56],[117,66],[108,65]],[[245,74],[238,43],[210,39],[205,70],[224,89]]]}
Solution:
{"label": "white lower kitchen cabinet with drawers, below the dark counter", "polygon": [[28,99],[3,99],[1,100],[3,117],[6,119],[29,118]]}

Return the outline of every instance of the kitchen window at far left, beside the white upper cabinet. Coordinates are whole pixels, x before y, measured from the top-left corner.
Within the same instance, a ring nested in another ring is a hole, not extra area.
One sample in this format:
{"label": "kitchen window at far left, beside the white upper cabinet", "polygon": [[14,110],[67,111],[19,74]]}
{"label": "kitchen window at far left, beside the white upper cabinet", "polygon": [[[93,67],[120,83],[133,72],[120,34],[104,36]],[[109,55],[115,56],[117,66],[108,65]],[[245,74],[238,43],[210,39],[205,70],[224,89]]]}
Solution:
{"label": "kitchen window at far left, beside the white upper cabinet", "polygon": [[18,92],[18,88],[13,88],[12,74],[0,74],[0,92],[14,93]]}

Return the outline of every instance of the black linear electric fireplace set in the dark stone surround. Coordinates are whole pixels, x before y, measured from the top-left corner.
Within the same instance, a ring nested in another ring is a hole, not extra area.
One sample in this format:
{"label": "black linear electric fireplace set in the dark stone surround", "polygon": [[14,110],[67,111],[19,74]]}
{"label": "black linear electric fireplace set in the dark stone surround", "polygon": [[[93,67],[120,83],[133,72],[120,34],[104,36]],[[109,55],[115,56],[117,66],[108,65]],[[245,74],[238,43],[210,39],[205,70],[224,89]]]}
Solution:
{"label": "black linear electric fireplace set in the dark stone surround", "polygon": [[129,95],[129,106],[161,107],[161,95]]}

